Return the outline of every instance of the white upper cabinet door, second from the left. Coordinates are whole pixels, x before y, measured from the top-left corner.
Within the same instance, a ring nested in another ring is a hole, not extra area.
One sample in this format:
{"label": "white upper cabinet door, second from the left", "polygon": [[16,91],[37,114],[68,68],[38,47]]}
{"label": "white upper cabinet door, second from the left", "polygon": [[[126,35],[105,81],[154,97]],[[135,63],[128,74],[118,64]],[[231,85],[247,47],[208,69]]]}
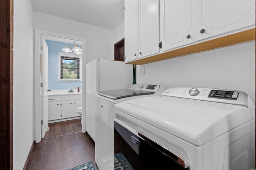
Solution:
{"label": "white upper cabinet door, second from the left", "polygon": [[140,0],[139,58],[159,53],[159,42],[159,0]]}

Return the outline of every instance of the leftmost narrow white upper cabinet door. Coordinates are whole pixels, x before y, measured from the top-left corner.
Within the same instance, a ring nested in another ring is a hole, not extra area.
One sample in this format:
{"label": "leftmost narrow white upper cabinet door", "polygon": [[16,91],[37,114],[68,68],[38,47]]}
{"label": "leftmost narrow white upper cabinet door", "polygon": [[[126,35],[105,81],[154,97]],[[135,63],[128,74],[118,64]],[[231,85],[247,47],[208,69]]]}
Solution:
{"label": "leftmost narrow white upper cabinet door", "polygon": [[125,62],[137,59],[138,53],[138,0],[124,0],[124,53]]}

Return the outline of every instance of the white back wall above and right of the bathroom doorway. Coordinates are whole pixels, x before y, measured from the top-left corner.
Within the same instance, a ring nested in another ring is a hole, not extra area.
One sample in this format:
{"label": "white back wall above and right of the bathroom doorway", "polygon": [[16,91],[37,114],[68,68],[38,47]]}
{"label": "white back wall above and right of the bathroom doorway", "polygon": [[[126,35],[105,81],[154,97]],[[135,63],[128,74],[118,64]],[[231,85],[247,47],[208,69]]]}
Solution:
{"label": "white back wall above and right of the bathroom doorway", "polygon": [[35,29],[86,38],[86,63],[102,58],[114,60],[113,31],[41,12],[33,12]]}

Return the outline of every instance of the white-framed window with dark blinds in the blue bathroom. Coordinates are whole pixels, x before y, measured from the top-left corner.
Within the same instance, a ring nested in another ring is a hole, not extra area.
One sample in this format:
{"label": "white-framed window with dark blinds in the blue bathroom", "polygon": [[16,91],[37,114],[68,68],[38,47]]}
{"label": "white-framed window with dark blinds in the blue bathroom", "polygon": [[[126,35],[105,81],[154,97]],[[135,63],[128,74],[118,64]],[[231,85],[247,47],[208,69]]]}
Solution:
{"label": "white-framed window with dark blinds in the blue bathroom", "polygon": [[80,81],[80,57],[60,55],[60,81]]}

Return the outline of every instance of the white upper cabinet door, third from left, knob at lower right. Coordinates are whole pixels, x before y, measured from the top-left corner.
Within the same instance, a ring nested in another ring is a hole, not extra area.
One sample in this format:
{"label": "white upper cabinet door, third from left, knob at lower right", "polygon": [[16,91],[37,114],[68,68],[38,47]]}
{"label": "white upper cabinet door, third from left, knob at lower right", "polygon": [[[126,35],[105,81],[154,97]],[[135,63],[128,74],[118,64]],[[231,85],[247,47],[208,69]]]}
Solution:
{"label": "white upper cabinet door, third from left, knob at lower right", "polygon": [[196,41],[196,0],[160,0],[162,51]]}

